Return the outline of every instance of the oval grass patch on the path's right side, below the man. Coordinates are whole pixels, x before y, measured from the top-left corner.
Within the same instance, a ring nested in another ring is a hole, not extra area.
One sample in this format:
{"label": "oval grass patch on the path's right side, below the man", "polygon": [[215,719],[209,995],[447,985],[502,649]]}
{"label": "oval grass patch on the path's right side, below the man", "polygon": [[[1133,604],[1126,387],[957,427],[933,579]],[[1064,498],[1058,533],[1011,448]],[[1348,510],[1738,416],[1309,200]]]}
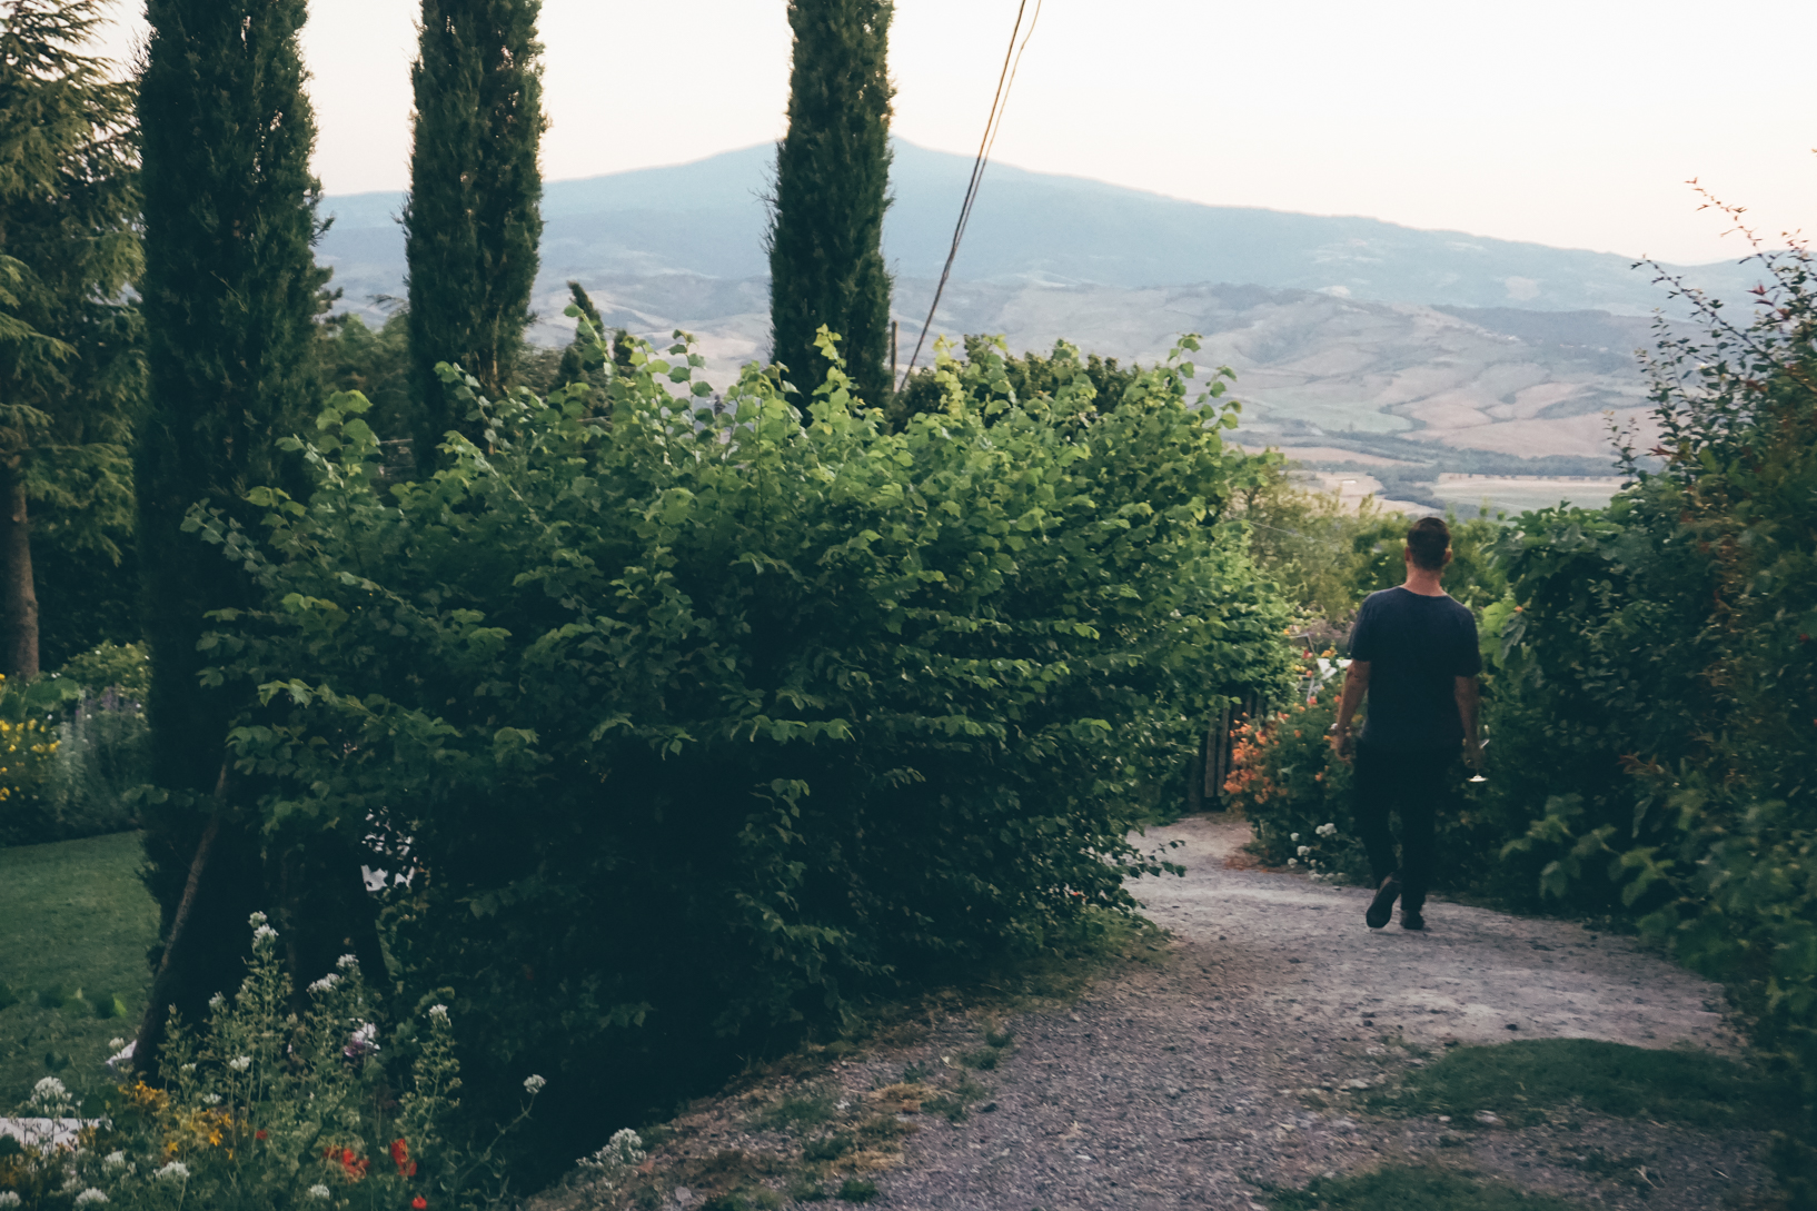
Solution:
{"label": "oval grass patch on the path's right side, below the man", "polygon": [[1621,1118],[1653,1118],[1721,1129],[1759,1126],[1795,1100],[1743,1066],[1706,1051],[1655,1051],[1594,1038],[1535,1038],[1494,1047],[1455,1047],[1365,1106],[1385,1113],[1452,1115],[1470,1126],[1477,1111],[1523,1124],[1559,1107]]}

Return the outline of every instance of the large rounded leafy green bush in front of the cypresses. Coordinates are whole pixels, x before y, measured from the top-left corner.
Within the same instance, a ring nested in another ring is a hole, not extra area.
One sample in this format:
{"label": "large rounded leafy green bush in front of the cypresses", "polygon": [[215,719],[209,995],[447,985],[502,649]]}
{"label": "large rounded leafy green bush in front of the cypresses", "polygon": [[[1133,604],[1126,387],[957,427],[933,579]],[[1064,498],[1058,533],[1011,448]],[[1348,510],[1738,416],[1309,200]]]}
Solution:
{"label": "large rounded leafy green bush in front of the cypresses", "polygon": [[836,364],[801,415],[776,367],[709,407],[669,355],[611,427],[445,371],[492,451],[391,489],[340,396],[307,504],[191,520],[263,587],[207,644],[260,687],[231,740],[267,835],[407,836],[396,956],[469,989],[474,1064],[576,1089],[1132,911],[1132,818],[1286,675],[1190,365],[1099,415],[1076,360],[1021,400],[941,356],[948,411],[892,433]]}

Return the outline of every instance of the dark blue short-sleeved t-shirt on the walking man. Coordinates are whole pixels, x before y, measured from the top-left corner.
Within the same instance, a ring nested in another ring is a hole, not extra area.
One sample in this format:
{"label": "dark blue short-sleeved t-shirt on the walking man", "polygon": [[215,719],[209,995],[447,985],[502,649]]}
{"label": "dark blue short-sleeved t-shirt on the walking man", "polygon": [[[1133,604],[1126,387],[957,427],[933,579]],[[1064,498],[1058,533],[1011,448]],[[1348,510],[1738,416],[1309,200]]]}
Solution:
{"label": "dark blue short-sleeved t-shirt on the walking man", "polygon": [[1455,747],[1465,738],[1455,678],[1483,671],[1466,607],[1410,589],[1370,593],[1350,627],[1350,658],[1368,660],[1361,744],[1405,753]]}

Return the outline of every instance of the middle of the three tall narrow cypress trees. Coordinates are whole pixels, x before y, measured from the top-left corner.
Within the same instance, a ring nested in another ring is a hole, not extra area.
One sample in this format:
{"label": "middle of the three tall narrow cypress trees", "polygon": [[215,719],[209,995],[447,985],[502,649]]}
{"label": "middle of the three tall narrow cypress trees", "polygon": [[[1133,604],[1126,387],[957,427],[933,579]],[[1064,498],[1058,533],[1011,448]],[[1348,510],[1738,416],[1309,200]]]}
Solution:
{"label": "middle of the three tall narrow cypress trees", "polygon": [[480,427],[442,387],[456,362],[487,395],[511,385],[543,235],[540,0],[423,0],[411,67],[416,129],[403,204],[416,464]]}

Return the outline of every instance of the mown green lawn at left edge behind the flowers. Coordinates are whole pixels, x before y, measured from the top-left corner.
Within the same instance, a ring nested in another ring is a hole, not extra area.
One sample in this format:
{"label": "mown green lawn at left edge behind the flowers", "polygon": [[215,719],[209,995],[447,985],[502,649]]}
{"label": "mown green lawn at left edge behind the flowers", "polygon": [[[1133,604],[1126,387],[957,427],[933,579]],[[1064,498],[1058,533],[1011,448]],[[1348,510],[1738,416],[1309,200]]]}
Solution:
{"label": "mown green lawn at left edge behind the flowers", "polygon": [[138,1029],[158,940],[142,856],[138,833],[0,849],[0,1113],[53,1071],[98,1086],[107,1040]]}

